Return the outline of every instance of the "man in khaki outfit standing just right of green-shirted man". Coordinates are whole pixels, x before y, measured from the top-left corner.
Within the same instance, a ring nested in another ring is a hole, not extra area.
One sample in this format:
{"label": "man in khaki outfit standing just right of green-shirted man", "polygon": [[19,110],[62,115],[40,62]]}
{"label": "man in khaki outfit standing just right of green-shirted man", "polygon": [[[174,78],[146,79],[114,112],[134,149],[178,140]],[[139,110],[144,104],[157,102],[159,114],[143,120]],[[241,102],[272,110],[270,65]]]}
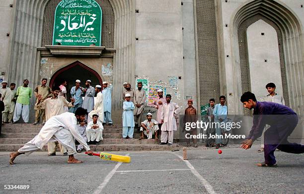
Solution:
{"label": "man in khaki outfit standing just right of green-shirted man", "polygon": [[[48,79],[47,78],[43,78],[41,80],[41,85],[37,85],[37,87],[34,90],[34,94],[37,98],[36,100],[36,104],[38,102],[38,96],[41,95],[42,99],[40,100],[40,103],[42,103],[45,99],[47,99],[48,97],[52,96],[52,90],[49,86],[47,86]],[[39,106],[40,107],[40,106]],[[43,119],[43,123],[42,125],[45,124],[45,109],[40,109],[37,105],[35,105],[34,109],[35,109],[35,123],[33,123],[34,125],[38,124],[40,121],[40,117],[42,117]]]}

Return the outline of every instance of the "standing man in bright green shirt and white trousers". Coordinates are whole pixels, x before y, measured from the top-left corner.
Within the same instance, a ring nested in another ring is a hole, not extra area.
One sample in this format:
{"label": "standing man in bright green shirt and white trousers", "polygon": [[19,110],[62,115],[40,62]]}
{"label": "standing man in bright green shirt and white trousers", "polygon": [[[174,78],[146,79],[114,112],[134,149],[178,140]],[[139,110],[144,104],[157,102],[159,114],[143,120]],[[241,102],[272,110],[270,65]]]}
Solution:
{"label": "standing man in bright green shirt and white trousers", "polygon": [[13,123],[17,123],[22,114],[22,119],[28,123],[29,99],[32,97],[32,88],[28,87],[28,79],[23,80],[23,86],[17,88],[17,102],[14,110]]}

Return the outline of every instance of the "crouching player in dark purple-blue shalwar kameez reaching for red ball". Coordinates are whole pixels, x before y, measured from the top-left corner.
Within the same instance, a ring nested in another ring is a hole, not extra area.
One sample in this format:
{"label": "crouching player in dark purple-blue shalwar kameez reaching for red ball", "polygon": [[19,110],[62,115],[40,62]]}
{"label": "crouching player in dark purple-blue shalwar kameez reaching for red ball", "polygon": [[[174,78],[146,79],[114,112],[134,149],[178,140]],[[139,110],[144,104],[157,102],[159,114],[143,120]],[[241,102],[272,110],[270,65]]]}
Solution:
{"label": "crouching player in dark purple-blue shalwar kameez reaching for red ball", "polygon": [[244,149],[250,148],[253,141],[262,135],[266,124],[270,125],[264,136],[265,162],[258,166],[276,166],[274,151],[277,148],[288,153],[304,153],[304,145],[290,143],[287,139],[298,124],[298,115],[291,108],[273,102],[258,102],[251,92],[245,92],[241,102],[245,108],[253,109],[253,126],[243,142]]}

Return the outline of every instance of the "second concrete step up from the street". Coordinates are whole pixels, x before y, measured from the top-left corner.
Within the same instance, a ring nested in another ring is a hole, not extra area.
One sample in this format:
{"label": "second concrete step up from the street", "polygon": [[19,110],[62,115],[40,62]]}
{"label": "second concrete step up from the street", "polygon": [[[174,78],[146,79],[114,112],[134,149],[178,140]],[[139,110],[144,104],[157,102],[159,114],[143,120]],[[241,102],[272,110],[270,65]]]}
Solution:
{"label": "second concrete step up from the street", "polygon": [[[135,137],[137,134],[135,134]],[[0,144],[25,144],[32,138],[0,138]],[[100,144],[157,144],[154,139],[104,138]]]}

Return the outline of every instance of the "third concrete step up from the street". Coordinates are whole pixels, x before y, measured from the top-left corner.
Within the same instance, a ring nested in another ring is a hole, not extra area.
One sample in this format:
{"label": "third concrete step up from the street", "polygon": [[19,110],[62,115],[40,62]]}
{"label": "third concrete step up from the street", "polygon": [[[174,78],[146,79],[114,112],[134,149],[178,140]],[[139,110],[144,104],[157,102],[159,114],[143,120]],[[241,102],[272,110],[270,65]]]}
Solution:
{"label": "third concrete step up from the street", "polygon": [[[0,138],[34,138],[38,132],[2,132]],[[122,131],[103,131],[102,137],[105,139],[115,139],[115,138],[121,138],[122,137]],[[140,133],[134,133],[134,138],[139,138]]]}

